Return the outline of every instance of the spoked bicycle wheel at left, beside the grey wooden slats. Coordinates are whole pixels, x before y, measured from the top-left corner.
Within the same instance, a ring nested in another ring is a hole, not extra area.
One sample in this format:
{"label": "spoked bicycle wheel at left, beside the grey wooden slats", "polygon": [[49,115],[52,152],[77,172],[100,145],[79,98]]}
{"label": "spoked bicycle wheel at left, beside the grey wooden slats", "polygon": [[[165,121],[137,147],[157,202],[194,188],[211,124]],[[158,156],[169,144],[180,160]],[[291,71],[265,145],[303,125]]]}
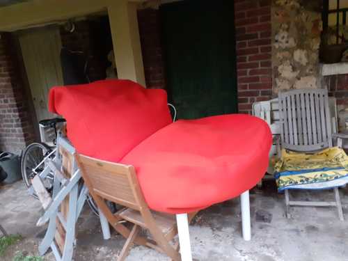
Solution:
{"label": "spoked bicycle wheel at left, beside the grey wooden slats", "polygon": [[[44,143],[31,143],[23,152],[21,160],[21,171],[26,187],[31,187],[31,180],[35,175],[40,174],[47,166],[47,160],[54,158],[54,152]],[[45,159],[46,158],[46,159]],[[44,161],[45,159],[45,161]],[[53,187],[53,175],[50,173],[43,180],[47,191],[51,191]],[[38,198],[33,194],[34,198]]]}

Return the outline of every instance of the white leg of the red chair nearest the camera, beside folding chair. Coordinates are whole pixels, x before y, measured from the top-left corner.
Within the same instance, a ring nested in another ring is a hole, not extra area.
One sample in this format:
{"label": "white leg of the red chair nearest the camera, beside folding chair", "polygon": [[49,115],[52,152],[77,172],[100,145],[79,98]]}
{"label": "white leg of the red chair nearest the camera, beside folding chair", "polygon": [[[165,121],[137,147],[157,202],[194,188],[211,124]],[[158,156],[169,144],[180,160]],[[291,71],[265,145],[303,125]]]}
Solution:
{"label": "white leg of the red chair nearest the camera, beside folding chair", "polygon": [[177,234],[179,235],[181,261],[192,261],[189,219],[187,218],[187,214],[177,214],[176,222]]}

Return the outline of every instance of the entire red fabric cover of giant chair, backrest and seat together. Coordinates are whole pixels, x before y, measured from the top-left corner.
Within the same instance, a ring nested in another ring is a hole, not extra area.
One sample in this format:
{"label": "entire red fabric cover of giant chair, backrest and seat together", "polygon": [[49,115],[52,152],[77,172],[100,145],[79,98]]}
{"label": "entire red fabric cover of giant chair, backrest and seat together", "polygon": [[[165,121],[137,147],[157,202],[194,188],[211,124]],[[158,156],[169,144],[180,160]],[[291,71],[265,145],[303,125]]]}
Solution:
{"label": "entire red fabric cover of giant chair, backrest and seat together", "polygon": [[78,152],[132,164],[150,208],[203,209],[251,189],[268,166],[271,132],[248,115],[171,123],[164,90],[132,81],[55,87],[49,109]]}

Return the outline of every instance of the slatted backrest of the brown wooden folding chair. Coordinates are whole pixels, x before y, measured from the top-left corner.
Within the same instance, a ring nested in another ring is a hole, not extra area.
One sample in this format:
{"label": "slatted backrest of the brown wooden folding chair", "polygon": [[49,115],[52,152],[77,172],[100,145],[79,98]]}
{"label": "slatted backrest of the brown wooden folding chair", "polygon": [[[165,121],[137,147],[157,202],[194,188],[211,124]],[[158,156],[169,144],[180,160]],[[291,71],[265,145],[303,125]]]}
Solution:
{"label": "slatted backrest of the brown wooden folding chair", "polygon": [[90,193],[125,207],[148,207],[133,166],[77,155],[77,162]]}

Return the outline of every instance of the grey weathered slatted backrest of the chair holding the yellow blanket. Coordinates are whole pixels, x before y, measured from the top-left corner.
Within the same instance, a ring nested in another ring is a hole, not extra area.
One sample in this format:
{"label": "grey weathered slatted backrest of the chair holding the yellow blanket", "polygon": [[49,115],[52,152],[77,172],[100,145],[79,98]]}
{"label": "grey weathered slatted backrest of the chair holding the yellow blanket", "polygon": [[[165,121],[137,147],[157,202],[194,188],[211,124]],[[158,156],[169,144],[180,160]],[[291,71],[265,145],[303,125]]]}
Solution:
{"label": "grey weathered slatted backrest of the chair holding the yellow blanket", "polygon": [[279,93],[279,112],[282,148],[311,152],[332,147],[326,89]]}

